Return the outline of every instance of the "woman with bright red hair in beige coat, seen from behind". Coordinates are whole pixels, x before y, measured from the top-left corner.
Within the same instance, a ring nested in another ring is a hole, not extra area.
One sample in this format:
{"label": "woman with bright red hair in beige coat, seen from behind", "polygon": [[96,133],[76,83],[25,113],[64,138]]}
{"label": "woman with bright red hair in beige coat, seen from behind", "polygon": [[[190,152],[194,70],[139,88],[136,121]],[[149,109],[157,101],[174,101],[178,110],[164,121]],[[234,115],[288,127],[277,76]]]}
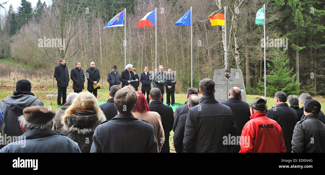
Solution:
{"label": "woman with bright red hair in beige coat, seen from behind", "polygon": [[157,139],[158,151],[160,152],[162,144],[165,141],[161,116],[157,112],[149,111],[148,102],[143,93],[139,91],[136,91],[136,93],[138,94],[138,99],[136,101],[136,105],[132,111],[132,114],[137,119],[145,120],[153,126],[153,129],[155,130],[155,137]]}

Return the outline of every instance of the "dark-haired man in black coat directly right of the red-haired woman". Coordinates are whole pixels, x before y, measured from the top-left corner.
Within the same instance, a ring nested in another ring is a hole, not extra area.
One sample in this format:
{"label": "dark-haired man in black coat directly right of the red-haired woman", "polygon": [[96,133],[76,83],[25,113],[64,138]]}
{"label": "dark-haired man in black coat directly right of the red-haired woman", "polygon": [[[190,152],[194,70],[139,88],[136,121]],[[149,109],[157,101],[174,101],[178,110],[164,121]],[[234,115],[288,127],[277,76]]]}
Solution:
{"label": "dark-haired man in black coat directly right of the red-haired woman", "polygon": [[159,88],[152,88],[150,90],[149,99],[149,111],[157,112],[162,119],[162,128],[164,130],[165,141],[162,145],[161,153],[169,153],[169,132],[173,129],[174,112],[173,108],[162,104],[162,94]]}

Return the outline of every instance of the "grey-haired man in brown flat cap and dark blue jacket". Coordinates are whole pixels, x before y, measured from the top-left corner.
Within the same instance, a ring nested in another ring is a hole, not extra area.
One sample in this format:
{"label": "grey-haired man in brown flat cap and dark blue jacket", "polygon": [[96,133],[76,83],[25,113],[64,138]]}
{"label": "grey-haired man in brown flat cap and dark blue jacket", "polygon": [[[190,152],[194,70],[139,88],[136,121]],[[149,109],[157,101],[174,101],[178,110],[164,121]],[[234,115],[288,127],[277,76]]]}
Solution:
{"label": "grey-haired man in brown flat cap and dark blue jacket", "polygon": [[30,106],[18,120],[24,132],[0,153],[80,153],[78,143],[52,130],[55,111],[44,106]]}

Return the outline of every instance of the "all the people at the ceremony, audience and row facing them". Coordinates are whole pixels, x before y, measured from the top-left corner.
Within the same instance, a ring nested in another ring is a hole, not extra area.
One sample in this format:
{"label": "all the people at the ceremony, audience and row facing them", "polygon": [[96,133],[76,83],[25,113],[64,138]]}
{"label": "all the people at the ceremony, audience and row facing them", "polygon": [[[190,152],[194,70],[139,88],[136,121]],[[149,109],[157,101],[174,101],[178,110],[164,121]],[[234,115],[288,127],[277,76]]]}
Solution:
{"label": "all the people at the ceremony, audience and row facing them", "polygon": [[[63,106],[57,112],[45,107],[31,92],[31,83],[19,80],[13,94],[0,103],[0,152],[169,153],[171,130],[177,153],[325,152],[325,116],[309,94],[287,97],[278,91],[275,106],[267,110],[265,97],[247,103],[238,87],[230,89],[227,101],[216,101],[215,82],[205,78],[199,89],[187,89],[187,101],[174,114],[169,106],[175,105],[176,81],[171,72],[163,72],[161,65],[152,78],[145,67],[139,80],[131,64],[121,75],[114,65],[107,77],[110,99],[98,105],[100,87],[94,85],[100,75],[95,63],[90,63],[84,76],[76,62],[71,71],[74,92],[65,96],[69,74],[60,60],[54,77],[58,104]],[[85,78],[88,92],[82,92]],[[167,105],[164,88],[172,97]]]}

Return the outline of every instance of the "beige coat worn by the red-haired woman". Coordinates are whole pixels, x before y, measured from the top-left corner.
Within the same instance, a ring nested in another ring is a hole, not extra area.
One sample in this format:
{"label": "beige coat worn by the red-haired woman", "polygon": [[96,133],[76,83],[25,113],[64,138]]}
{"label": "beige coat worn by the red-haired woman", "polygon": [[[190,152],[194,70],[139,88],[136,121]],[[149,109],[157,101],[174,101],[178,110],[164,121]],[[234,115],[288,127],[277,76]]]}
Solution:
{"label": "beige coat worn by the red-haired woman", "polygon": [[157,112],[148,111],[146,113],[134,112],[132,113],[137,119],[149,122],[155,130],[155,137],[157,139],[157,147],[160,152],[162,144],[165,141],[165,135],[162,128],[162,119]]}

